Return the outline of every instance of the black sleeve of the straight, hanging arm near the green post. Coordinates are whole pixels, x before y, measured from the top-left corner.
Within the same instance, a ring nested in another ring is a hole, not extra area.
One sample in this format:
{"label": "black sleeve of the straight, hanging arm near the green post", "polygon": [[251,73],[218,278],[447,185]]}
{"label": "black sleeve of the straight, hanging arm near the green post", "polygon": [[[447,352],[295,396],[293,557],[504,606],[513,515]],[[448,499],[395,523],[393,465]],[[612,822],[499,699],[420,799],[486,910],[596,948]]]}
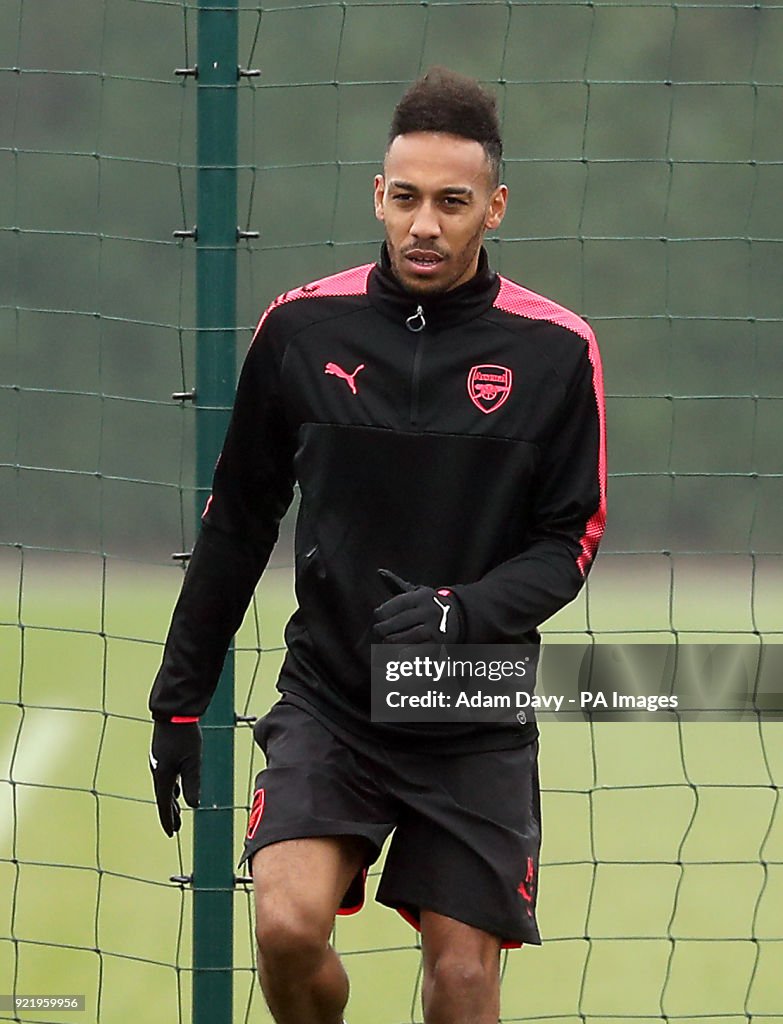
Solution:
{"label": "black sleeve of the straight, hanging arm near the green post", "polygon": [[153,718],[199,717],[217,686],[294,492],[295,432],[264,317],[245,360],[202,528],[153,684]]}

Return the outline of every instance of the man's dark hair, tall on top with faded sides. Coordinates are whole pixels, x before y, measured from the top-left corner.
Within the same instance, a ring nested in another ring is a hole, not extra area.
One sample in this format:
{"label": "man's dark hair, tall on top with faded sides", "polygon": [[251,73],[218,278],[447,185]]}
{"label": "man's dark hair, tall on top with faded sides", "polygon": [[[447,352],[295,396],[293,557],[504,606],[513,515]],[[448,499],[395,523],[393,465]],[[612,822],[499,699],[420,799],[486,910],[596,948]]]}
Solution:
{"label": "man's dark hair, tall on top with faded sides", "polygon": [[397,135],[419,131],[444,132],[480,142],[492,184],[499,183],[503,139],[497,104],[475,79],[447,68],[432,68],[415,82],[394,109],[387,151]]}

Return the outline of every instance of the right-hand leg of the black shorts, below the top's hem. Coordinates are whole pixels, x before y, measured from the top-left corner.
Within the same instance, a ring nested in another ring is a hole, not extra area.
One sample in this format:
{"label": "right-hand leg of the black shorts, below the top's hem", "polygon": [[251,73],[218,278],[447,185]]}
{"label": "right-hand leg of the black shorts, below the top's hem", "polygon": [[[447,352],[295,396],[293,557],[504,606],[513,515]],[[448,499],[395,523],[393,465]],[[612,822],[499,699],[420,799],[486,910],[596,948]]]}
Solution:
{"label": "right-hand leg of the black shorts, below the top's hem", "polygon": [[411,759],[400,768],[405,809],[379,900],[417,927],[429,910],[505,946],[539,943],[537,743]]}

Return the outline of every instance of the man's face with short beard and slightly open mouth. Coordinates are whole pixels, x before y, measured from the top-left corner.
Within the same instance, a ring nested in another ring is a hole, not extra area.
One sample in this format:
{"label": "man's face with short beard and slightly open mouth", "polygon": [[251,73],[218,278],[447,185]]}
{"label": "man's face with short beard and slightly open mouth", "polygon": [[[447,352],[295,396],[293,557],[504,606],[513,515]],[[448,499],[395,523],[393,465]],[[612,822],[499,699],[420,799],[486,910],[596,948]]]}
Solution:
{"label": "man's face with short beard and slightly open mouth", "polygon": [[507,198],[480,142],[440,132],[397,135],[375,182],[376,216],[397,280],[419,295],[470,281]]}

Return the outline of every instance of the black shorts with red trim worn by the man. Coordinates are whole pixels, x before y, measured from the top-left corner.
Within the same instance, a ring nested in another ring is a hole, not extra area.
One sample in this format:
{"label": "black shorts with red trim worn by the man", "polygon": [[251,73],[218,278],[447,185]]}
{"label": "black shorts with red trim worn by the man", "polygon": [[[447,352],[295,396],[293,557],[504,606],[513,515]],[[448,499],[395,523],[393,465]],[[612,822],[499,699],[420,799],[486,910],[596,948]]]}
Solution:
{"label": "black shorts with red trim worn by the man", "polygon": [[366,867],[393,833],[380,903],[418,927],[420,910],[539,944],[537,741],[455,755],[356,750],[284,698],[256,723],[266,755],[242,860],[282,840],[359,836],[367,863],[341,912],[360,909]]}

